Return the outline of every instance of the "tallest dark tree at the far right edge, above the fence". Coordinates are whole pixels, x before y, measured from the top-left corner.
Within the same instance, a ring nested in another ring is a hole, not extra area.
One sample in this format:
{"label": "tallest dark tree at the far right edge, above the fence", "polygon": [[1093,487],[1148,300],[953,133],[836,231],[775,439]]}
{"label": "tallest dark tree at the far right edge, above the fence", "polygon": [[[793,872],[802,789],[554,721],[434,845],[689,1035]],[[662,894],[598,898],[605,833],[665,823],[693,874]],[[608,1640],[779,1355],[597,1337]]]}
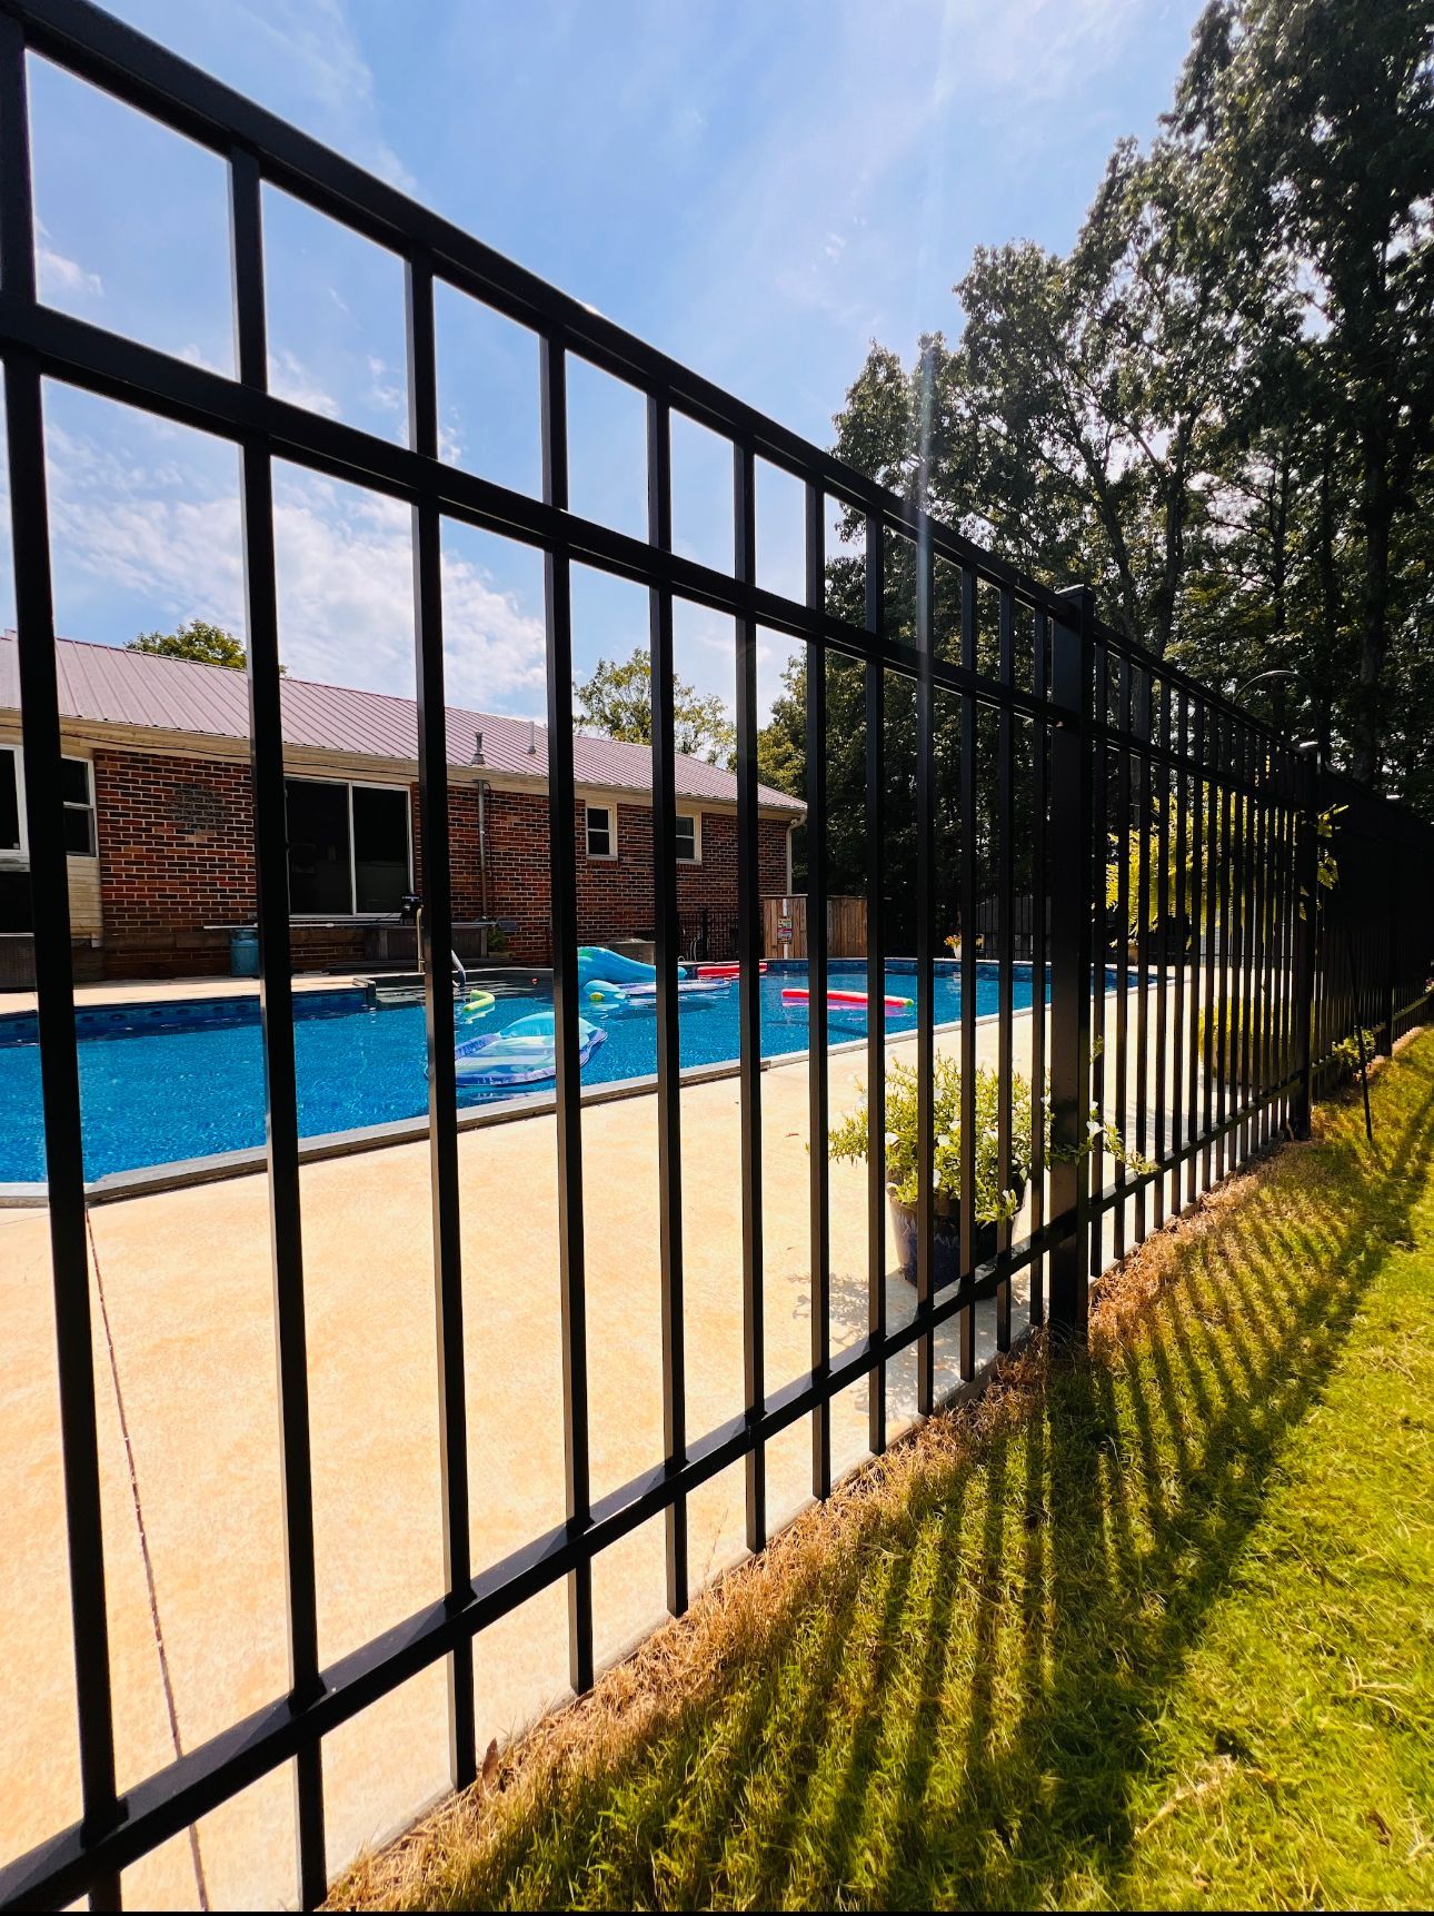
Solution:
{"label": "tallest dark tree at the far right edge, above the fence", "polygon": [[1304,423],[1325,460],[1313,563],[1331,567],[1338,542],[1350,768],[1369,782],[1390,648],[1423,588],[1401,525],[1434,448],[1432,33],[1428,0],[1214,0],[1174,115],[1212,155],[1229,247],[1283,266],[1310,341]]}

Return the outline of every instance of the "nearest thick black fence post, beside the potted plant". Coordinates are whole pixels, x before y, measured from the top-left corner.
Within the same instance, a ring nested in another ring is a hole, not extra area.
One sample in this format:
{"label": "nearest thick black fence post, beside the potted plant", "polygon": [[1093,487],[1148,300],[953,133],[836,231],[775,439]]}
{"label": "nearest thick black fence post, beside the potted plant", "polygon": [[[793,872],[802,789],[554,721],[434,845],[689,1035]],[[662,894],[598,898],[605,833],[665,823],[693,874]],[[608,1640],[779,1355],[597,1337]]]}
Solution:
{"label": "nearest thick black fence post, beside the potted plant", "polygon": [[1051,621],[1051,1330],[1086,1341],[1089,1312],[1091,927],[1097,862],[1091,770],[1095,598],[1072,586],[1076,627]]}

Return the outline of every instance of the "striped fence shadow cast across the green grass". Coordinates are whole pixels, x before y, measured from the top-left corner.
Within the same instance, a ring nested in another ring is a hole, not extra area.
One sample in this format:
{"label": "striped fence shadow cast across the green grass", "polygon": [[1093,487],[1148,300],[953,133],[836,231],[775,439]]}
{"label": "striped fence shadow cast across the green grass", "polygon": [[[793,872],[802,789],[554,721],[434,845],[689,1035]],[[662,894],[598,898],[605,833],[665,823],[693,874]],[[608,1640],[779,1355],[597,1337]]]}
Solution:
{"label": "striped fence shadow cast across the green grass", "polygon": [[1407,1236],[1434,1060],[1400,1071],[1356,1175],[1315,1144],[1317,1178],[1290,1155],[1191,1232],[1124,1337],[1047,1366],[1042,1414],[877,1500],[760,1654],[733,1644],[616,1770],[569,1774],[459,1895],[978,1908],[1118,1885],[1149,1724]]}

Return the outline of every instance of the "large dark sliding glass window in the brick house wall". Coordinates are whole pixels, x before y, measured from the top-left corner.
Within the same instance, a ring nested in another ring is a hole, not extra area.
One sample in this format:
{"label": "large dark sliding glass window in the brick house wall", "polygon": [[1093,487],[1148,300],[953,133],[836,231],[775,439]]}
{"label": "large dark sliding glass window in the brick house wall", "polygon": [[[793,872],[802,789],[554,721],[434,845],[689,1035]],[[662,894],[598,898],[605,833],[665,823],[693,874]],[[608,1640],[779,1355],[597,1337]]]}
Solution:
{"label": "large dark sliding glass window in the brick house wall", "polygon": [[287,778],[289,910],[299,918],[396,912],[414,885],[408,791]]}

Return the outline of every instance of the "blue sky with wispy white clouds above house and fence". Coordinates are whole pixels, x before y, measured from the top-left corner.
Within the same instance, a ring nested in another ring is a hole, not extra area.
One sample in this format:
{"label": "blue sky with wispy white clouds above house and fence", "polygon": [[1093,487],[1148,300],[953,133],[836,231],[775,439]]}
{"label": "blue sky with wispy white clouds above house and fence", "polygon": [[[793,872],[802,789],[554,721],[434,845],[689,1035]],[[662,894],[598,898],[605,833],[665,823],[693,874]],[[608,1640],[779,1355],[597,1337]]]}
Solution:
{"label": "blue sky with wispy white clouds above house and fence", "polygon": [[[1112,142],[1168,103],[1197,0],[121,0],[113,8],[785,425],[827,443],[869,339],[959,330],[971,249],[1066,247]],[[222,167],[33,63],[42,295],[232,370]],[[266,194],[272,381],[404,437],[398,262]],[[444,452],[536,490],[530,335],[438,308]],[[641,402],[571,374],[572,506],[641,531]],[[234,454],[50,391],[59,630],[243,627]],[[674,536],[729,563],[729,466],[674,441]],[[408,515],[278,473],[281,640],[304,676],[412,692]],[[800,590],[800,494],[758,475],[758,573]],[[450,694],[540,713],[536,558],[454,529]],[[576,669],[645,642],[643,594],[582,575]],[[11,615],[8,613],[8,619]],[[762,653],[764,701],[785,646]],[[731,696],[731,632],[678,669]]]}

